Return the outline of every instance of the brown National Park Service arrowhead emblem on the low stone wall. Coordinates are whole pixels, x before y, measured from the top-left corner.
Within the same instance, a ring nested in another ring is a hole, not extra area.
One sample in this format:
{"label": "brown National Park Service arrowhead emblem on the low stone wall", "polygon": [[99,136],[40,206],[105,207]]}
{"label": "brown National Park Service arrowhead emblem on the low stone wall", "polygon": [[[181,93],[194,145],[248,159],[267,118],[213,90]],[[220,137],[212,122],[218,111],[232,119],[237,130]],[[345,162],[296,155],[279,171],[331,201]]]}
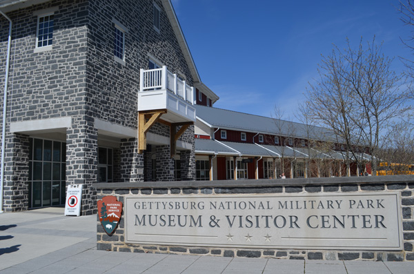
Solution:
{"label": "brown National Park Service arrowhead emblem on the low stone wall", "polygon": [[117,201],[115,196],[106,196],[98,201],[99,221],[106,234],[112,235],[115,232],[121,219],[122,203]]}

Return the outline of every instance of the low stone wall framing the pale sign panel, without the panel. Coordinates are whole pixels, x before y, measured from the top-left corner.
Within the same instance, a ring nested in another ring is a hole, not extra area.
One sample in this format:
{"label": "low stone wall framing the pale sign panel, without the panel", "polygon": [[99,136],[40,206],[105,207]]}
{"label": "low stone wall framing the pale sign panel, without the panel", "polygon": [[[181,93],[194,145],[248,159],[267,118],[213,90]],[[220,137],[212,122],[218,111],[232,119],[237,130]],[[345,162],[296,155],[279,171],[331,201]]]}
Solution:
{"label": "low stone wall framing the pale sign panel, without the panel", "polygon": [[164,246],[152,244],[126,244],[124,212],[117,231],[106,235],[97,222],[97,248],[99,250],[135,253],[174,253],[185,255],[213,255],[224,257],[265,257],[289,260],[371,260],[414,261],[414,176],[397,175],[384,177],[336,177],[312,179],[237,180],[212,182],[148,182],[140,186],[132,184],[95,184],[98,199],[115,195],[124,203],[127,195],[137,197],[179,195],[221,195],[246,193],[401,193],[403,251],[342,251],[305,249],[246,249],[212,248],[204,246]]}

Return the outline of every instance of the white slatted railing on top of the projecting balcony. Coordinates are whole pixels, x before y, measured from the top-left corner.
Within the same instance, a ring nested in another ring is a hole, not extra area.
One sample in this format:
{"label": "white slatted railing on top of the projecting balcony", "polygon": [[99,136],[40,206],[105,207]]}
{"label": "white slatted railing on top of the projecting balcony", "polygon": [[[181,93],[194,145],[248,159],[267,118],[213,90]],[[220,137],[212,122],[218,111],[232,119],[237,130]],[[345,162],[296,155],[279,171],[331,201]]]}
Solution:
{"label": "white slatted railing on top of the projecting balcony", "polygon": [[151,90],[168,90],[188,103],[194,104],[194,88],[167,70],[166,66],[153,70],[140,70],[139,92]]}

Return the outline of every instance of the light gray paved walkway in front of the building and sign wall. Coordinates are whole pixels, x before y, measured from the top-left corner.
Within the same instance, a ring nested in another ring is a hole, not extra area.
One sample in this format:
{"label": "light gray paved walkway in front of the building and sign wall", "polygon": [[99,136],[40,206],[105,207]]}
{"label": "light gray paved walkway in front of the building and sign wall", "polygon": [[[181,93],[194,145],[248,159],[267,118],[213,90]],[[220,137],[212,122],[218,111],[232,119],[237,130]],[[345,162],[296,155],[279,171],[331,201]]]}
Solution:
{"label": "light gray paved walkway in front of the building and sign wall", "polygon": [[0,274],[414,273],[414,262],[274,260],[96,250],[96,215],[63,208],[0,214]]}

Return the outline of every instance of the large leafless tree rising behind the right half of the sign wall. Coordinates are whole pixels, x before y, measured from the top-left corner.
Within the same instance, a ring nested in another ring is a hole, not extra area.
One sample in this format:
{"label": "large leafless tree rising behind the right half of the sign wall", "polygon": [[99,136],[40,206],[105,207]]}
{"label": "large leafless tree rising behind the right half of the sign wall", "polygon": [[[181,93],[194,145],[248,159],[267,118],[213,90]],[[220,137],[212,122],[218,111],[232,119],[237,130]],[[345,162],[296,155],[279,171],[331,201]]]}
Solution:
{"label": "large leafless tree rising behind the right half of the sign wall", "polygon": [[[347,170],[351,162],[364,166],[364,153],[372,156],[376,174],[380,139],[393,119],[400,119],[411,106],[400,78],[391,70],[392,59],[372,42],[355,50],[347,39],[347,47],[334,46],[332,54],[322,57],[319,77],[306,90],[306,106],[310,117],[335,133],[337,144],[344,144]],[[348,176],[349,176],[348,171]]]}

